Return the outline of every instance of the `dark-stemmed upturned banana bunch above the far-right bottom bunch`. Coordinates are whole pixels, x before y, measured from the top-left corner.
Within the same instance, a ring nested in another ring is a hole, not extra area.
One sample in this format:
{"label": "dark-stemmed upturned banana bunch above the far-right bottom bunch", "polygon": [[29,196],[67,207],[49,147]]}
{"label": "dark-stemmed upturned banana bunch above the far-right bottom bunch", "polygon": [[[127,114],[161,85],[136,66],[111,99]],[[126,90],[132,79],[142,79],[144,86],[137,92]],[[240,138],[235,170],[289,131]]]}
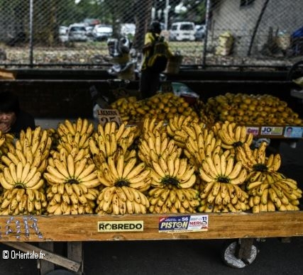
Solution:
{"label": "dark-stemmed upturned banana bunch above the far-right bottom bunch", "polygon": [[[236,158],[240,160],[243,167],[250,172],[277,172],[281,165],[280,154],[271,154],[266,157],[266,142],[262,142],[260,147],[251,150],[247,143],[236,148]],[[253,177],[258,177],[260,173],[252,174]],[[248,177],[251,175],[249,174]]]}

